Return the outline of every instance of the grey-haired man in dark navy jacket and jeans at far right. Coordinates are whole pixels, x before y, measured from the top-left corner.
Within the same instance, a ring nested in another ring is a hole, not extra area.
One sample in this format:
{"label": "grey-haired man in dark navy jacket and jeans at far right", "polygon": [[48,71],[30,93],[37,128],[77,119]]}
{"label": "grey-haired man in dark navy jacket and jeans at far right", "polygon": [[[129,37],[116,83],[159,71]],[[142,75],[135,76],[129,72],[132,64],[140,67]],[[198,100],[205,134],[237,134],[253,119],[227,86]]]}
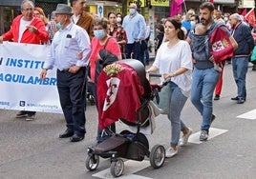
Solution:
{"label": "grey-haired man in dark navy jacket and jeans at far right", "polygon": [[251,51],[254,48],[254,39],[249,27],[243,22],[241,15],[233,13],[229,16],[229,22],[232,26],[231,34],[238,43],[238,49],[235,50],[232,60],[233,77],[237,85],[237,96],[231,100],[238,104],[245,103],[246,87],[245,79],[248,69],[248,62]]}

